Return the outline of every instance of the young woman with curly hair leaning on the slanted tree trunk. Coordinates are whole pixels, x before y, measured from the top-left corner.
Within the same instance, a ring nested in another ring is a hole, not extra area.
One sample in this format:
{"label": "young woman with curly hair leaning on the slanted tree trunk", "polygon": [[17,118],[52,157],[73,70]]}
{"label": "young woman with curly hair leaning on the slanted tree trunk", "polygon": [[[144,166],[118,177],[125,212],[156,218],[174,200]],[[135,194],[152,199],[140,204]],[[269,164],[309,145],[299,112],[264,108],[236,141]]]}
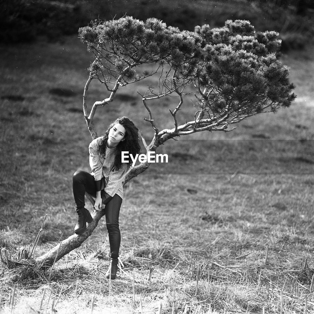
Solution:
{"label": "young woman with curly hair leaning on the slanted tree trunk", "polygon": [[[91,173],[76,171],[73,175],[73,194],[76,205],[76,234],[86,230],[86,222],[93,220],[85,208],[85,192],[96,197],[95,209],[104,210],[109,235],[110,267],[107,278],[115,279],[120,248],[119,212],[123,198],[123,184],[127,163],[121,162],[121,152],[135,156],[140,152],[138,129],[126,116],[110,124],[102,137],[89,145]],[[131,158],[129,157],[131,161]]]}

